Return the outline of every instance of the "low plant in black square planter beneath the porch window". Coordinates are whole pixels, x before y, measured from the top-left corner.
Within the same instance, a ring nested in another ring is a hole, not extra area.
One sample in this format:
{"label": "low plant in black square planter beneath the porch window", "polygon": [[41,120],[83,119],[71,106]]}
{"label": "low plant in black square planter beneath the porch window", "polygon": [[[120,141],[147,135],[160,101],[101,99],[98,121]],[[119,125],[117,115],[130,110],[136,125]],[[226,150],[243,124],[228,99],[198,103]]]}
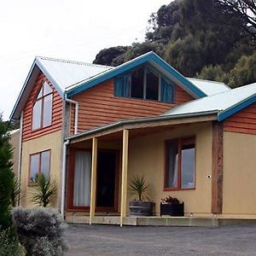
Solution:
{"label": "low plant in black square planter beneath the porch window", "polygon": [[184,202],[181,202],[177,197],[171,195],[160,201],[160,216],[184,216]]}

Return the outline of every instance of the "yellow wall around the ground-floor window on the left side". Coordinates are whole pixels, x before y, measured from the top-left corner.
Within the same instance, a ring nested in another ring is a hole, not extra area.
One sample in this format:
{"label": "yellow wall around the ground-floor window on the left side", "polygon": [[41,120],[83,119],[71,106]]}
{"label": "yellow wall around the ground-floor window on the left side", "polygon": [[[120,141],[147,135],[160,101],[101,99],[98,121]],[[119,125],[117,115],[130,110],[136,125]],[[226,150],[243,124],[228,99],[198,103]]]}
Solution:
{"label": "yellow wall around the ground-floor window on the left side", "polygon": [[51,150],[50,159],[50,178],[55,180],[58,186],[58,196],[53,207],[59,207],[59,199],[61,194],[61,151],[62,151],[61,131],[45,135],[29,140],[22,144],[22,166],[21,166],[21,206],[34,207],[31,202],[32,187],[29,187],[29,155],[44,150]]}

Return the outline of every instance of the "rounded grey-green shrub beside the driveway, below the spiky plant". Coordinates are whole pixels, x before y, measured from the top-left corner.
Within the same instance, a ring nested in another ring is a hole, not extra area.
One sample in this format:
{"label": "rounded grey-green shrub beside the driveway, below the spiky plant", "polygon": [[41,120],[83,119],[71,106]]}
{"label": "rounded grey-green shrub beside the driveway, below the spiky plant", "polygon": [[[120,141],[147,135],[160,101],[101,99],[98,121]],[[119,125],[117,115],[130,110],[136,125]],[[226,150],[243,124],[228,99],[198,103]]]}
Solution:
{"label": "rounded grey-green shrub beside the driveway, below the spiky plant", "polygon": [[27,255],[62,255],[67,248],[62,237],[66,224],[52,208],[17,207],[13,210],[13,223]]}

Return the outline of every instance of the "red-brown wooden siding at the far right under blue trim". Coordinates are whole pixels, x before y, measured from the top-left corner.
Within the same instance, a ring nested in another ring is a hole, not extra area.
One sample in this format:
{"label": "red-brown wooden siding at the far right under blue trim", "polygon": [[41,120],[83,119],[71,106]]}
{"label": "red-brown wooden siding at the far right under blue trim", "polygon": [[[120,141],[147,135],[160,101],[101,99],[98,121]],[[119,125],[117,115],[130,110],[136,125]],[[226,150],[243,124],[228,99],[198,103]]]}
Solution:
{"label": "red-brown wooden siding at the far right under blue trim", "polygon": [[226,119],[224,131],[256,135],[256,104],[244,108]]}

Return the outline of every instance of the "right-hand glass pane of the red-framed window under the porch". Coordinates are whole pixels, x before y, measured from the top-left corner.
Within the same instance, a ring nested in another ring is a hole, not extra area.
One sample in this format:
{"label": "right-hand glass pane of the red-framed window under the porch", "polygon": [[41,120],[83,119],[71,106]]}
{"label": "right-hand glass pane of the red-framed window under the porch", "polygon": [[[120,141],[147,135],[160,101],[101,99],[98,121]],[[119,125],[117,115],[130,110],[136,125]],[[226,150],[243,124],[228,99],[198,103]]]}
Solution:
{"label": "right-hand glass pane of the red-framed window under the porch", "polygon": [[195,188],[195,145],[182,148],[182,188]]}

